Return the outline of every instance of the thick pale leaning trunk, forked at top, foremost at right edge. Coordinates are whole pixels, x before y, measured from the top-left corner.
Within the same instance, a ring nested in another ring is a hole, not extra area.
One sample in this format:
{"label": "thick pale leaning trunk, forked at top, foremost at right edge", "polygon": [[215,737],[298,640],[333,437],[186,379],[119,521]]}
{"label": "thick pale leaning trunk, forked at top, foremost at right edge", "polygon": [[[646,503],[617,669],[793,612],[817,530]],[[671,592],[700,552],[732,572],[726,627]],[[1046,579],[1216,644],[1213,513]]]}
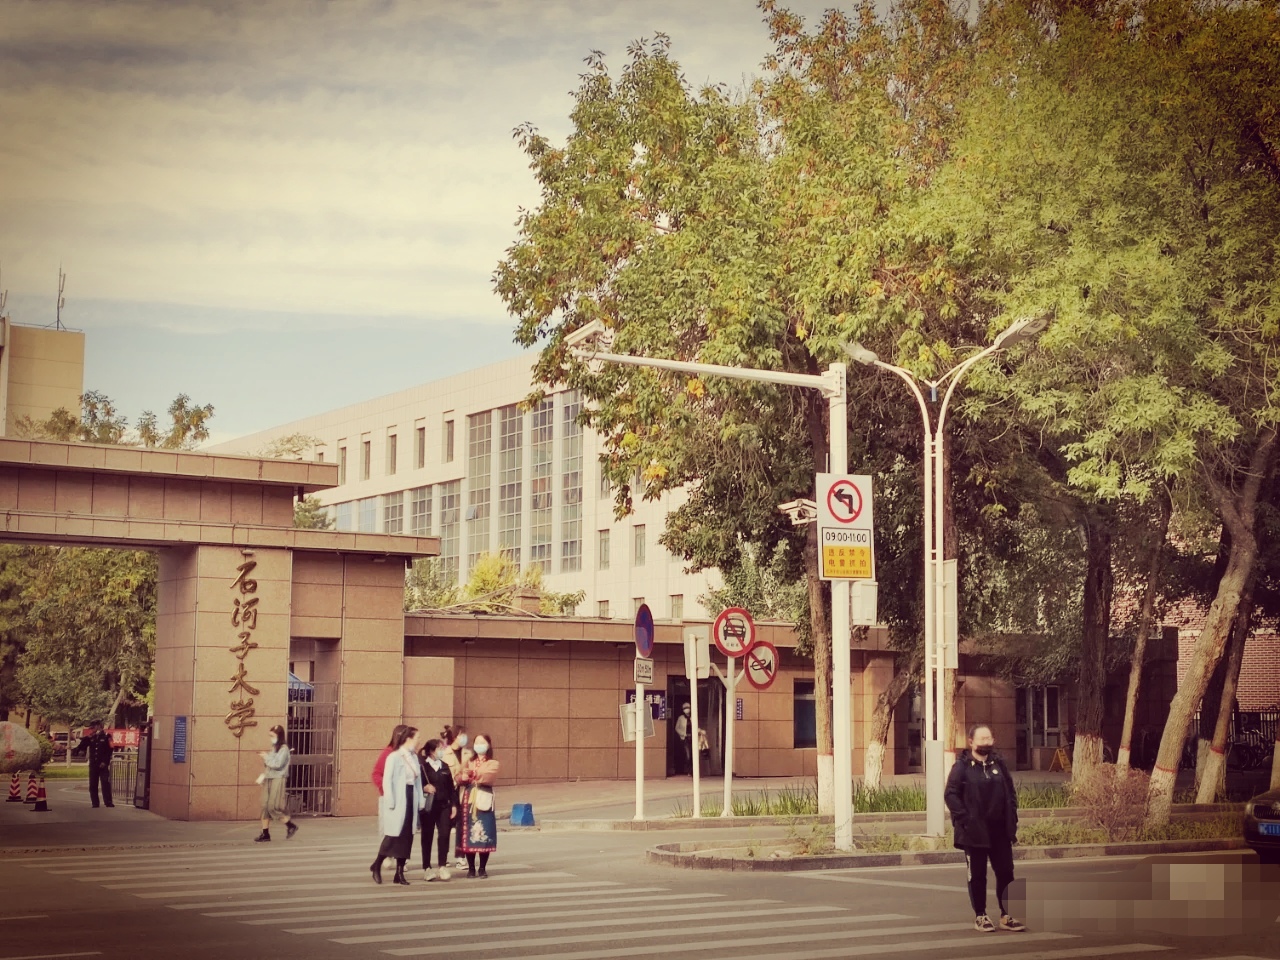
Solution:
{"label": "thick pale leaning trunk, forked at top, foremost at right edge", "polygon": [[1204,696],[1210,675],[1222,658],[1228,634],[1240,607],[1240,596],[1253,577],[1258,562],[1258,543],[1254,535],[1257,503],[1262,486],[1270,480],[1275,466],[1275,440],[1274,428],[1258,439],[1249,470],[1242,471],[1245,480],[1239,492],[1217,484],[1212,476],[1206,477],[1217,502],[1222,524],[1230,530],[1231,549],[1226,570],[1217,585],[1217,594],[1204,617],[1204,628],[1201,630],[1192,650],[1187,673],[1169,705],[1169,719],[1160,737],[1160,753],[1156,755],[1156,768],[1151,773],[1147,794],[1147,827],[1164,827],[1169,823],[1187,728],[1190,726],[1197,704]]}

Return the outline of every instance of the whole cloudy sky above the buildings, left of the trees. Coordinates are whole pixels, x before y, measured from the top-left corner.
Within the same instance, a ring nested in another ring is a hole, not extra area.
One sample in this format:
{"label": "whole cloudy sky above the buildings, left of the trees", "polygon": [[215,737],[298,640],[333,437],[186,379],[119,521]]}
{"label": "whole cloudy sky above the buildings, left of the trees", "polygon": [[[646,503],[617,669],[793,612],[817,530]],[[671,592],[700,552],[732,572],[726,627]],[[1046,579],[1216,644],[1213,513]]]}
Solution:
{"label": "whole cloudy sky above the buildings, left of the trees", "polygon": [[[833,0],[783,5],[820,17]],[[754,0],[0,0],[0,289],[86,333],[136,417],[210,442],[515,356],[490,278],[593,50],[687,81],[768,54]]]}

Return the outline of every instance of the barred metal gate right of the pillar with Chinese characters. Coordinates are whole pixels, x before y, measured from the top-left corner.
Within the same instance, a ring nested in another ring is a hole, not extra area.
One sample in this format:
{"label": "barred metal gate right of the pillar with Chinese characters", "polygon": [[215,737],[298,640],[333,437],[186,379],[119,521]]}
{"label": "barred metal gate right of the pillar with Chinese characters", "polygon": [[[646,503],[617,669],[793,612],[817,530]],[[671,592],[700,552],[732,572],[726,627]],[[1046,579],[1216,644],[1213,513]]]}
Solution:
{"label": "barred metal gate right of the pillar with Chinese characters", "polygon": [[333,814],[338,685],[307,684],[289,675],[285,737],[292,759],[285,783],[291,814]]}

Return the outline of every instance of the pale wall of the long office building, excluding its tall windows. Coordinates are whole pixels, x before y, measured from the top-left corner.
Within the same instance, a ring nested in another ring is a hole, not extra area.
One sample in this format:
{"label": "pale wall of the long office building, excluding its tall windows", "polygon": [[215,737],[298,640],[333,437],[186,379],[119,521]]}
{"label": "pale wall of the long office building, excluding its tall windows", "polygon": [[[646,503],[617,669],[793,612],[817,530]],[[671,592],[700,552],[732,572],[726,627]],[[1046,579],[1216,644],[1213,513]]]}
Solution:
{"label": "pale wall of the long office building, excluding its tall windows", "polygon": [[[385,507],[388,495],[403,495],[403,532],[416,532],[422,536],[443,536],[442,497],[445,484],[457,483],[460,504],[457,511],[457,552],[460,556],[460,579],[467,572],[467,553],[471,550],[471,530],[476,521],[467,518],[471,485],[468,479],[468,435],[467,422],[471,415],[493,412],[492,452],[489,460],[489,532],[484,539],[481,552],[495,552],[500,547],[500,506],[502,506],[502,451],[500,417],[498,411],[511,408],[522,402],[532,390],[532,355],[516,357],[500,364],[470,370],[457,376],[413,387],[406,390],[378,397],[349,407],[332,410],[303,420],[271,428],[237,440],[218,444],[210,449],[223,453],[251,453],[282,436],[305,434],[319,438],[319,445],[308,456],[323,458],[326,463],[339,462],[346,451],[346,471],[338,486],[319,493],[323,503],[333,506],[337,515],[338,504],[352,504],[352,526],[358,529],[358,504],[372,502],[376,532],[387,530]],[[552,420],[552,461],[550,461],[550,559],[544,567],[547,589],[558,593],[584,590],[586,596],[577,608],[579,616],[600,616],[602,603],[607,604],[607,616],[612,620],[631,621],[635,616],[637,599],[649,604],[657,620],[690,617],[700,618],[718,613],[704,611],[699,598],[709,586],[721,582],[718,571],[686,573],[684,561],[672,557],[658,544],[658,536],[666,529],[667,515],[685,500],[682,492],[664,494],[657,500],[644,502],[636,498],[635,513],[623,518],[613,517],[613,499],[600,481],[600,440],[591,433],[582,435],[581,460],[576,468],[581,485],[579,509],[579,536],[581,540],[580,568],[566,566],[563,543],[571,539],[566,524],[572,524],[572,515],[566,512],[571,494],[567,490],[567,475],[573,472],[568,462],[571,451],[566,447],[566,393],[553,393]],[[453,456],[448,457],[448,425],[453,428]],[[422,466],[417,466],[419,430],[422,430]],[[392,471],[392,438],[396,445],[396,463]],[[365,443],[369,444],[369,476],[364,476]],[[521,467],[521,511],[520,511],[520,556],[524,566],[531,558],[534,538],[531,498],[532,486],[532,416],[525,412],[521,417],[520,433]],[[570,484],[572,485],[572,484]],[[411,494],[413,490],[430,492],[430,524],[420,530],[411,525]],[[640,532],[637,534],[637,527]],[[602,556],[600,531],[608,531],[608,557]],[[641,536],[644,543],[643,562],[636,559],[635,543]],[[443,544],[447,553],[448,543]],[[672,598],[676,600],[673,609]]]}

